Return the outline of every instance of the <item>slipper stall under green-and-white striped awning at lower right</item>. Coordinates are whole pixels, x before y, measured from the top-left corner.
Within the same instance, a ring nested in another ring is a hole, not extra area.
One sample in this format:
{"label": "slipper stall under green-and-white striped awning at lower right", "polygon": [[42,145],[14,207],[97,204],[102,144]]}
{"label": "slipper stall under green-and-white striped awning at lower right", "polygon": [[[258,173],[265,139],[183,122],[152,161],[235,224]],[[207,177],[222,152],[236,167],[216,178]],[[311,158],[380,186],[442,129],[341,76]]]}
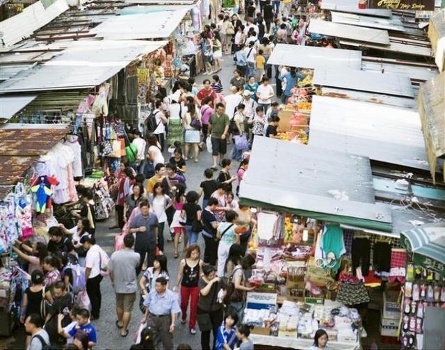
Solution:
{"label": "slipper stall under green-and-white striped awning at lower right", "polygon": [[[445,223],[404,231],[401,242],[410,257],[401,303],[401,344],[410,349],[431,349],[431,344],[442,342],[443,337],[443,332],[438,333],[431,325],[444,317],[444,310],[440,310],[441,315],[435,309],[445,305]],[[428,342],[431,338],[435,342]]]}

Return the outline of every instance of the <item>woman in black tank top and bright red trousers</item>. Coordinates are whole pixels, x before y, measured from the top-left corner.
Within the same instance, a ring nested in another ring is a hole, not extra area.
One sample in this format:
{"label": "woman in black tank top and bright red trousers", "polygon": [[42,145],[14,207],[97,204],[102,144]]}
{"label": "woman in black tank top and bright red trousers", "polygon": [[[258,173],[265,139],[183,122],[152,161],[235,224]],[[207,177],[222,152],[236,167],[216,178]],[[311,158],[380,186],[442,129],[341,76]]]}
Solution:
{"label": "woman in black tank top and bright red trousers", "polygon": [[190,320],[188,328],[191,334],[196,334],[196,312],[197,301],[200,297],[200,287],[198,281],[202,275],[201,250],[197,244],[188,246],[185,259],[179,264],[178,282],[181,283],[181,323],[185,324],[187,319],[188,299],[190,299]]}

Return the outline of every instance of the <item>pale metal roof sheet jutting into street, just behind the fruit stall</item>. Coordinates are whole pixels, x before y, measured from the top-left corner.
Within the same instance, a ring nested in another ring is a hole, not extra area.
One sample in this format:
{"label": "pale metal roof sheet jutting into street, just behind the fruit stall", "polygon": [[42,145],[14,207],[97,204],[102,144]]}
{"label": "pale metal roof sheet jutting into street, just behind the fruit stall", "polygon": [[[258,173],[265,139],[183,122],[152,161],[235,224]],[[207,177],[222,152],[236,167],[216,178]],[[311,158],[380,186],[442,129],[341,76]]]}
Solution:
{"label": "pale metal roof sheet jutting into street, just behind the fruit stall", "polygon": [[362,51],[277,44],[268,64],[312,69],[348,67],[360,70],[361,61]]}

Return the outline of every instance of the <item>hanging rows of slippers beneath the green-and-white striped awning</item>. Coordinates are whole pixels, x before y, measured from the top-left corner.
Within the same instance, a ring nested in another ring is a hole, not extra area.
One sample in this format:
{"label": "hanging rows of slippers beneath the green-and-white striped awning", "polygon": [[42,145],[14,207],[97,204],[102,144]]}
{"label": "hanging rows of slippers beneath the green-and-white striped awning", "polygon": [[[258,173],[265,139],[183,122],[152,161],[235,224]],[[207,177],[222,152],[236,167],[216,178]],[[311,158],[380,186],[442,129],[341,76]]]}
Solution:
{"label": "hanging rows of slippers beneath the green-and-white striped awning", "polygon": [[445,285],[438,273],[414,269],[412,264],[407,267],[406,280],[401,342],[404,349],[422,349],[425,308],[445,308]]}

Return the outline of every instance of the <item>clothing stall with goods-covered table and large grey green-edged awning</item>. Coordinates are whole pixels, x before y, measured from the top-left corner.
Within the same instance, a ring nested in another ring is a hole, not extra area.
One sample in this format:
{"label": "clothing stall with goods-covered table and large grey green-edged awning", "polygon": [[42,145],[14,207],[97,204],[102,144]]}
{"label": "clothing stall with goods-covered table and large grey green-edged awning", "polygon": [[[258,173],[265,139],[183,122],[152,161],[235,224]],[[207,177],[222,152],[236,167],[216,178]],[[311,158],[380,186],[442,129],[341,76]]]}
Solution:
{"label": "clothing stall with goods-covered table and large grey green-edged awning", "polygon": [[240,189],[257,218],[243,319],[255,344],[305,349],[323,328],[330,349],[360,349],[369,312],[380,340],[397,342],[410,261],[400,232],[419,216],[375,202],[374,186],[367,157],[255,139]]}

